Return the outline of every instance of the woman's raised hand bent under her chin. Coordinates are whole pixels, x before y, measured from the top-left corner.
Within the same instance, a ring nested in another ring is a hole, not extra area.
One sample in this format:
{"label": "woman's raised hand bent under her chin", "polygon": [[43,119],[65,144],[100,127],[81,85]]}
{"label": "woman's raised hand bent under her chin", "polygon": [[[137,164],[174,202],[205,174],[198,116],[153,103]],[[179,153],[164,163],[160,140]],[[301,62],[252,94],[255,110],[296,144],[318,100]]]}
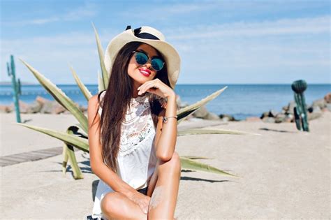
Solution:
{"label": "woman's raised hand bent under her chin", "polygon": [[149,80],[138,87],[138,95],[144,94],[146,91],[161,96],[162,98],[176,96],[175,91],[158,78],[155,80]]}

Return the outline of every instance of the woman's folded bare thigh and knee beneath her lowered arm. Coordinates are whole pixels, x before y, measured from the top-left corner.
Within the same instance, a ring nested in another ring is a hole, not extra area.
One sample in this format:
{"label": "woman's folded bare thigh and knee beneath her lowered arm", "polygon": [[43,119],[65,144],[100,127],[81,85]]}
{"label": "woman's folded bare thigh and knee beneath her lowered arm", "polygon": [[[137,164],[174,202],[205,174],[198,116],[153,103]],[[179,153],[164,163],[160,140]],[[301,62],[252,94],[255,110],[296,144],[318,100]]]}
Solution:
{"label": "woman's folded bare thigh and knee beneath her lowered arm", "polygon": [[101,200],[103,214],[111,218],[147,219],[147,214],[142,212],[139,205],[133,203],[122,193],[107,193]]}

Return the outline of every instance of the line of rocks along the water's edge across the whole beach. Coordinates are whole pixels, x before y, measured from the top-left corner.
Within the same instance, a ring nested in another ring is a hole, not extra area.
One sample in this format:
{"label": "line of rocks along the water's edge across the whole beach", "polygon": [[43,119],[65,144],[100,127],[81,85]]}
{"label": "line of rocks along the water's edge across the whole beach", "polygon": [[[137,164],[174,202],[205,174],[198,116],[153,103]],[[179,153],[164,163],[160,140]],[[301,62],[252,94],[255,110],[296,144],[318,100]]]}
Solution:
{"label": "line of rocks along the water's edge across the whole beach", "polygon": [[[21,115],[29,114],[29,113],[42,113],[42,114],[54,114],[54,115],[70,115],[71,112],[68,112],[63,106],[59,105],[57,101],[52,101],[47,98],[43,98],[42,96],[37,96],[35,101],[32,103],[24,103],[23,101],[19,101],[20,103],[20,113]],[[87,115],[87,106],[79,105],[75,103],[85,115]],[[184,108],[189,104],[186,102],[182,102],[181,97],[177,95],[177,108]],[[331,111],[331,92],[326,94],[322,98],[318,98],[313,101],[311,104],[306,103],[307,105],[307,113],[309,119],[316,119],[321,117],[321,113],[325,111]],[[261,112],[259,115],[247,115],[244,119],[235,118],[234,115],[231,114],[215,114],[214,112],[209,112],[205,105],[203,105],[200,109],[193,112],[192,116],[202,119],[221,119],[223,122],[229,121],[258,121],[259,118],[263,120],[263,122],[272,122],[272,123],[281,123],[281,122],[294,122],[294,112],[293,108],[295,107],[295,102],[290,101],[288,105],[285,105],[281,108],[281,110],[273,110],[269,109],[265,112]],[[0,105],[0,113],[10,113],[14,111],[14,104],[10,105]],[[241,113],[244,115],[244,113]]]}

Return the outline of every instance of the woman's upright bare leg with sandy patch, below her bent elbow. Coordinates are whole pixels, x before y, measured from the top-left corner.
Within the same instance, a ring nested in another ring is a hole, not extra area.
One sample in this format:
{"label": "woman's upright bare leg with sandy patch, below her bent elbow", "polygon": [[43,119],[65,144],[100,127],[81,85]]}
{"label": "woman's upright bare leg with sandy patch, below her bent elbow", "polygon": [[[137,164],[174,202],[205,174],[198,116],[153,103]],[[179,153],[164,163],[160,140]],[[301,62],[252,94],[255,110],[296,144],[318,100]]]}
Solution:
{"label": "woman's upright bare leg with sandy patch, below her bent elbow", "polygon": [[149,201],[148,219],[173,219],[180,179],[180,159],[174,152],[169,161],[160,161],[157,181]]}

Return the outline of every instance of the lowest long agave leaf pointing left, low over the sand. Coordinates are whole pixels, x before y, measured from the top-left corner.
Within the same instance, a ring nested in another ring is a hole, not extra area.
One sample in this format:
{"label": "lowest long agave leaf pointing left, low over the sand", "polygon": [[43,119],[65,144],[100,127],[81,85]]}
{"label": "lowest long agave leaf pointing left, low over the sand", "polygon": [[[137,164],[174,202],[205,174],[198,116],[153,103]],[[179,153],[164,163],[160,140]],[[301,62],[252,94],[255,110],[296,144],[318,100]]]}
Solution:
{"label": "lowest long agave leaf pointing left, low over the sand", "polygon": [[45,133],[47,135],[50,135],[53,138],[57,138],[70,145],[73,145],[73,146],[77,147],[78,149],[81,149],[84,152],[89,152],[89,142],[85,138],[80,138],[75,135],[71,135],[71,134],[63,133],[63,132],[59,132],[59,131],[53,131],[50,129],[44,129],[44,128],[41,128],[38,126],[32,126],[32,125],[23,124],[23,123],[15,123],[15,124],[20,124],[29,129],[32,129],[34,131],[39,131],[41,133]]}

